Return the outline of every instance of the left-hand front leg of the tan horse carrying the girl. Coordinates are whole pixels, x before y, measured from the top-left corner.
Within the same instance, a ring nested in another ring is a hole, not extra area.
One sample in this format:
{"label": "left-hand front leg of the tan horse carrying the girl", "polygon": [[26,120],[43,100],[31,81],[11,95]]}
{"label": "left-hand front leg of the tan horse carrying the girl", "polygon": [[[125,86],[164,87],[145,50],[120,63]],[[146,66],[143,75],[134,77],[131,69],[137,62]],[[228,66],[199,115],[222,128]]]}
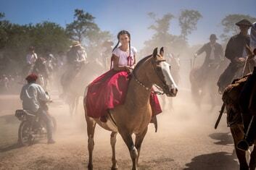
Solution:
{"label": "left-hand front leg of the tan horse carrying the girl", "polygon": [[131,134],[128,132],[128,130],[125,130],[123,128],[120,128],[118,130],[123,140],[125,141],[125,144],[127,145],[128,150],[130,151],[131,161],[133,161],[133,170],[136,170],[137,169],[136,159],[138,157],[138,151],[133,143],[133,138],[131,137]]}

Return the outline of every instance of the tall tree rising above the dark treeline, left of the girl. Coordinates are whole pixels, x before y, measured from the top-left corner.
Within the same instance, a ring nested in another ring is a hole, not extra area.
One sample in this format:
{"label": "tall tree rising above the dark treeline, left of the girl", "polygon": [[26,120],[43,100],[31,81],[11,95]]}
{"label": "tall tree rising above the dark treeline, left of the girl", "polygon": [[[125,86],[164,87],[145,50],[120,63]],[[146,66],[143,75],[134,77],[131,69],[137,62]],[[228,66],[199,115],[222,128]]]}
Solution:
{"label": "tall tree rising above the dark treeline, left of the girl", "polygon": [[66,31],[70,38],[75,41],[83,42],[88,37],[88,32],[99,29],[94,23],[94,16],[83,9],[75,9],[74,21],[67,24]]}

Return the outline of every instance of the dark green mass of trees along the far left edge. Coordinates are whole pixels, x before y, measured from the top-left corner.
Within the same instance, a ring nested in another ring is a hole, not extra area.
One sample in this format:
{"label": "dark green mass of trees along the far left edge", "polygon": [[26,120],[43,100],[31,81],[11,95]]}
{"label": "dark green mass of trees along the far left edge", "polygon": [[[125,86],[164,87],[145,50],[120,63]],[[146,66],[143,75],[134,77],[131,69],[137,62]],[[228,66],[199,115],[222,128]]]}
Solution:
{"label": "dark green mass of trees along the far left edge", "polygon": [[46,51],[53,54],[66,51],[70,45],[65,29],[53,22],[17,25],[2,20],[0,21],[0,35],[0,52],[4,61],[20,64],[20,68],[12,68],[13,71],[21,69],[25,64],[29,46],[36,48],[38,56],[44,56]]}

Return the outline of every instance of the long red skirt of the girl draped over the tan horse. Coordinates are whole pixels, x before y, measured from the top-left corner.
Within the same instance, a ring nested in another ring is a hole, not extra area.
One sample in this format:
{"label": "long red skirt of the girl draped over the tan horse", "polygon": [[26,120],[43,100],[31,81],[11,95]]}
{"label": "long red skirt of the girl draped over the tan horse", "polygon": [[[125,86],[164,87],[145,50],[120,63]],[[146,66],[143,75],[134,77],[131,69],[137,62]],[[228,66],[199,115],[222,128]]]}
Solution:
{"label": "long red skirt of the girl draped over the tan horse", "polygon": [[[84,106],[87,115],[93,118],[100,118],[107,115],[109,109],[125,103],[125,96],[128,90],[128,72],[117,72],[114,69],[99,76],[88,85],[88,92]],[[152,114],[157,115],[162,112],[157,95],[151,93],[150,105]]]}

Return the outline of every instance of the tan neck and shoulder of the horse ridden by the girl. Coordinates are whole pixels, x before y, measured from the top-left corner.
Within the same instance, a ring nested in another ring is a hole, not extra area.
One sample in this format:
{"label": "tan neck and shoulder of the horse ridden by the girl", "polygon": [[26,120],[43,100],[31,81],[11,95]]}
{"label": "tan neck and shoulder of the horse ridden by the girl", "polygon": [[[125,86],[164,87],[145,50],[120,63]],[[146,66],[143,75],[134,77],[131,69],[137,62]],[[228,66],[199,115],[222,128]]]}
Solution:
{"label": "tan neck and shoulder of the horse ridden by the girl", "polygon": [[[141,66],[134,74],[136,78],[146,85],[147,88],[152,88],[152,83],[147,80],[146,68]],[[151,91],[146,90],[142,85],[136,82],[135,77],[132,76],[128,85],[128,92],[125,99],[125,104],[135,108],[144,108],[149,103],[149,96]]]}

